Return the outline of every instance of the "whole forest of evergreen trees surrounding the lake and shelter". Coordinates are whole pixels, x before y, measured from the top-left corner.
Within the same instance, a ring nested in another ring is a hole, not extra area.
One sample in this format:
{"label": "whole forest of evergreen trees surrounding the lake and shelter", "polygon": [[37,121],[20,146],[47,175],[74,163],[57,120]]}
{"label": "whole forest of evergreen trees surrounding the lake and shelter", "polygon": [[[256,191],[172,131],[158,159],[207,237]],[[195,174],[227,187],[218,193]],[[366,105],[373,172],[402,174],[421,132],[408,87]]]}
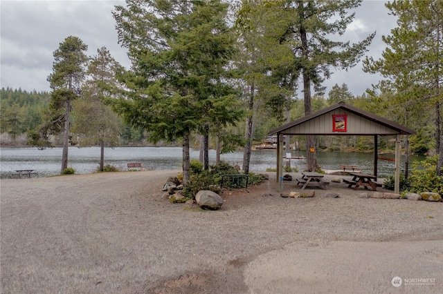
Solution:
{"label": "whole forest of evergreen trees surrounding the lake and shelter", "polygon": [[[35,146],[53,144],[49,135],[60,140],[62,129],[64,145],[66,138],[79,146],[181,144],[186,182],[189,148],[202,146],[205,163],[208,148],[217,153],[243,148],[247,172],[253,144],[260,144],[269,130],[345,101],[417,130],[409,137],[409,151],[440,155],[440,174],[442,2],[388,3],[398,26],[383,37],[381,59],[363,60],[364,70],[381,73],[383,80],[359,96],[346,84],[325,92],[322,84],[331,68],[355,66],[374,37],[363,36],[354,44],[334,41],[360,3],[127,0],[113,15],[132,68],[119,66],[106,48],[86,57],[87,46],[67,37],[54,52],[51,92],[1,90],[1,133],[12,144],[28,133]],[[93,119],[95,112],[107,120]],[[96,131],[91,133],[91,127]],[[116,133],[118,138],[110,136]],[[380,139],[379,150],[392,150],[389,139]],[[366,137],[292,141],[300,150],[372,149]],[[308,168],[315,168],[316,159],[309,161]]]}

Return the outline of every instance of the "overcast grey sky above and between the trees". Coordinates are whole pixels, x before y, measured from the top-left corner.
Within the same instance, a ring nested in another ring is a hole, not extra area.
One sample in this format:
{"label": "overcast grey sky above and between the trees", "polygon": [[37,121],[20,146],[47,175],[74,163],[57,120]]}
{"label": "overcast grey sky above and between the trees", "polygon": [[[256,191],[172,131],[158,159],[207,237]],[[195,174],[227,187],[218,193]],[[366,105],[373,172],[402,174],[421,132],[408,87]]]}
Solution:
{"label": "overcast grey sky above and between the trees", "polygon": [[[381,36],[395,27],[395,17],[388,15],[386,1],[365,0],[355,11],[356,16],[345,37],[354,43],[370,33],[377,35],[366,55],[378,59],[386,48]],[[126,68],[129,60],[125,48],[117,41],[111,10],[125,1],[8,1],[0,0],[1,19],[1,87],[22,90],[51,90],[46,81],[52,72],[53,52],[68,36],[82,39],[88,45],[88,55],[96,55],[102,46]],[[325,81],[326,92],[335,84],[347,84],[354,95],[361,95],[380,77],[361,70],[361,62],[350,70],[332,70]]]}

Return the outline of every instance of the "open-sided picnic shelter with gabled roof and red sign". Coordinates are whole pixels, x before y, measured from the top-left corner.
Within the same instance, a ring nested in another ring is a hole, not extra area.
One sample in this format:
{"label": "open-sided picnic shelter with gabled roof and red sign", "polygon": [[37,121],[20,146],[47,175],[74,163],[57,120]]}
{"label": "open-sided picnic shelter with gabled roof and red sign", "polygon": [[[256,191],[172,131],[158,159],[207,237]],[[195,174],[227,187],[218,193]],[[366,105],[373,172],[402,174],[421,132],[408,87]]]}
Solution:
{"label": "open-sided picnic shelter with gabled roof and red sign", "polygon": [[[395,193],[399,193],[400,136],[414,135],[415,130],[393,121],[373,115],[345,102],[338,102],[288,124],[270,130],[268,135],[277,135],[277,181],[282,190],[284,135],[333,135],[374,136],[374,175],[377,176],[377,140],[379,135],[395,136]],[[310,151],[310,150],[309,150]],[[312,150],[315,152],[315,150]]]}

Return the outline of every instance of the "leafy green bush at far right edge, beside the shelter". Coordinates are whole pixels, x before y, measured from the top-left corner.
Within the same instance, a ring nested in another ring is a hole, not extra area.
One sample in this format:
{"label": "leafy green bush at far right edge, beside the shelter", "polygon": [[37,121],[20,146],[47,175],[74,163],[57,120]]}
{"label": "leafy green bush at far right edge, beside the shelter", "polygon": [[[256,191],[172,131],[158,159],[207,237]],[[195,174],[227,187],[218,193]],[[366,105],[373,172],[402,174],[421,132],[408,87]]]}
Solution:
{"label": "leafy green bush at far right edge, beside the shelter", "polygon": [[437,156],[415,161],[410,173],[410,192],[434,192],[443,195],[443,176],[437,176]]}

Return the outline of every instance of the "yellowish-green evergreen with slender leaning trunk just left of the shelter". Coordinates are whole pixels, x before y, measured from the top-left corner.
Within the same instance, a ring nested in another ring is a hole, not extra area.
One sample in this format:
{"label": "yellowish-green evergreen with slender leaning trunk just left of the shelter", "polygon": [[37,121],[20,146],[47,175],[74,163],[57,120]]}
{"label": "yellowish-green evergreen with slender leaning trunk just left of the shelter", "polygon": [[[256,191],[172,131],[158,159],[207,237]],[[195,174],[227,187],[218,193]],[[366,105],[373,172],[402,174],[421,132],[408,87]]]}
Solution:
{"label": "yellowish-green evergreen with slender leaning trunk just left of the shelter", "polygon": [[293,68],[291,41],[280,39],[288,21],[284,13],[279,1],[244,0],[236,14],[240,49],[235,67],[242,79],[239,84],[247,113],[243,153],[245,173],[248,173],[251,162],[257,113],[260,108],[267,108],[269,115],[281,120],[283,111],[289,113],[296,88],[298,70]]}

